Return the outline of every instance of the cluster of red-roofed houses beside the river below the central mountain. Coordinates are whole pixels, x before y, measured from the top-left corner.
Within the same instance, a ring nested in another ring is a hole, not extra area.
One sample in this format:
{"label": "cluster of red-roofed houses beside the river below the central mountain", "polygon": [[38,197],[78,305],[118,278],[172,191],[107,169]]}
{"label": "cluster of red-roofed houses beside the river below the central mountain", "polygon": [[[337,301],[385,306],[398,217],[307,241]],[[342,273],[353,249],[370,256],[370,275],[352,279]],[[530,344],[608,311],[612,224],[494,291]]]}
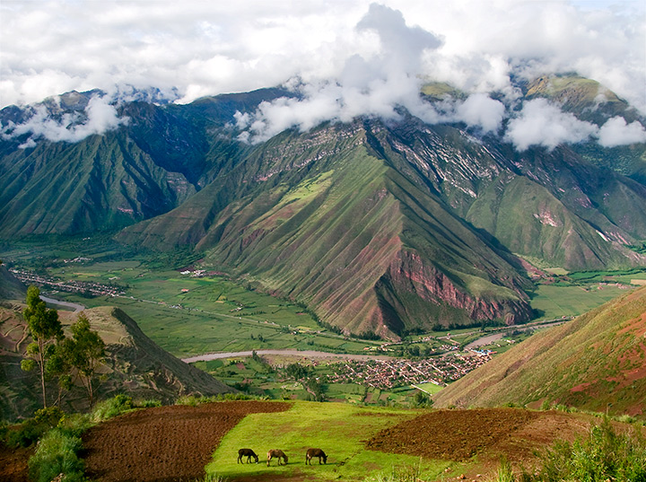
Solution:
{"label": "cluster of red-roofed houses beside the river below the central mountain", "polygon": [[360,383],[388,390],[416,383],[445,385],[491,360],[491,352],[453,353],[421,360],[386,359],[336,364],[328,383]]}

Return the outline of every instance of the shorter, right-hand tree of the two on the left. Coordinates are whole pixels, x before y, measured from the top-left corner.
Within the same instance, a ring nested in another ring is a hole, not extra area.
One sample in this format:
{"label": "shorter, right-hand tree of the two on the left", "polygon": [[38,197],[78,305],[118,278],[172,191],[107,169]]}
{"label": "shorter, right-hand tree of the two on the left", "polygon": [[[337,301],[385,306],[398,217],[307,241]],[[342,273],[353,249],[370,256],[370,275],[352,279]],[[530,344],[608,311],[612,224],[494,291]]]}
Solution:
{"label": "shorter, right-hand tree of the two on the left", "polygon": [[65,339],[64,356],[69,360],[88,395],[90,407],[94,404],[96,371],[105,356],[105,343],[97,331],[90,329],[90,321],[82,312],[72,325],[72,338]]}

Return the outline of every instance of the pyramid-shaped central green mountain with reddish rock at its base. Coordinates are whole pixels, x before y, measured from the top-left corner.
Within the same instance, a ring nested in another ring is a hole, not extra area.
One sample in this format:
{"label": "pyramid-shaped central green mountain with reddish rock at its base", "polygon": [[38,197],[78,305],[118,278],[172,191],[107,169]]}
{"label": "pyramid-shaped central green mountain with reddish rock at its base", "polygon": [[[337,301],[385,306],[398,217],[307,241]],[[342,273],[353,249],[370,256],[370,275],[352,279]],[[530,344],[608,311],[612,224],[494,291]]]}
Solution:
{"label": "pyramid-shaped central green mountain with reddish rock at its base", "polygon": [[512,257],[451,213],[419,174],[401,173],[373,148],[380,128],[357,122],[282,136],[231,171],[251,194],[223,203],[231,188],[215,182],[119,239],[192,241],[205,264],[354,333],[528,320],[527,282]]}

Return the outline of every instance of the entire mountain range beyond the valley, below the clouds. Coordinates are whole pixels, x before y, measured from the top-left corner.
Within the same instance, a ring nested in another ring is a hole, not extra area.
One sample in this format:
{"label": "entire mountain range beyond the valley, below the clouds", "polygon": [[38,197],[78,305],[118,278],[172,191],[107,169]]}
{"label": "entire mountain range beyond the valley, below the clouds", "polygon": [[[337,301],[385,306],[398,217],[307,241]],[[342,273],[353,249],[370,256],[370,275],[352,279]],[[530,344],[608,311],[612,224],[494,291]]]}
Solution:
{"label": "entire mountain range beyond the valley, below the clouds", "polygon": [[[562,102],[566,91],[568,110],[588,112],[588,82],[525,88]],[[528,320],[517,256],[567,269],[646,262],[629,248],[646,239],[643,145],[612,170],[613,150],[519,153],[498,136],[406,114],[238,142],[233,113],[279,95],[131,103],[121,107],[127,125],[74,145],[4,141],[0,235],[129,226],[119,241],[188,245],[346,332],[385,337]],[[602,118],[627,109],[611,101]]]}

